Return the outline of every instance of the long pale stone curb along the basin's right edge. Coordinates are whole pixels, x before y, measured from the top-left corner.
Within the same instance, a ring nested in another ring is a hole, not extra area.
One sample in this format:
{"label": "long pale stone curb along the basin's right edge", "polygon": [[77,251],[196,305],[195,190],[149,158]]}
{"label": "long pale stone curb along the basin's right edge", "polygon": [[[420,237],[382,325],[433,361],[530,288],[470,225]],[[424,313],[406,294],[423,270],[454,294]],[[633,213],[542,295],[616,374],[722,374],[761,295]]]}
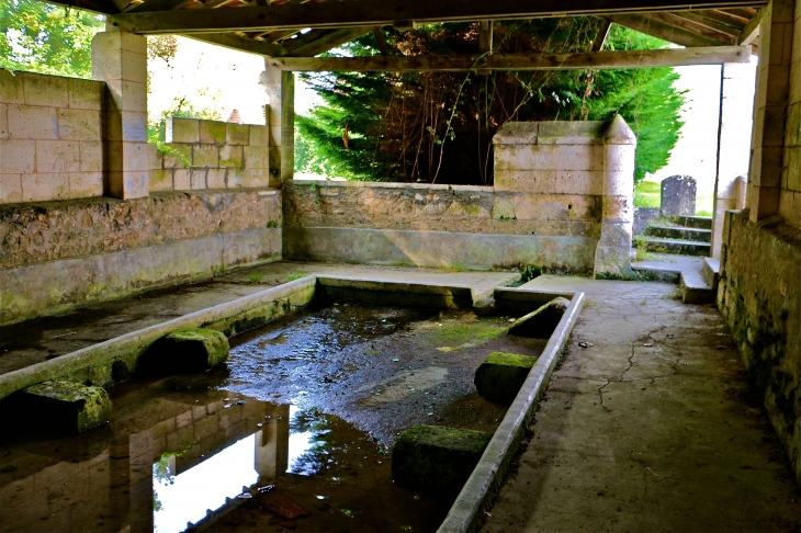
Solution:
{"label": "long pale stone curb along the basin's right edge", "polygon": [[[518,293],[515,294],[515,299],[518,300],[522,299],[522,294],[527,292],[532,295],[532,302],[539,300],[543,295],[566,296],[565,293],[542,293],[519,288],[496,290],[496,294],[501,291]],[[473,532],[482,525],[484,511],[489,508],[500,490],[506,469],[522,440],[527,423],[533,417],[540,396],[548,386],[560,354],[567,343],[567,338],[584,305],[584,293],[578,292],[568,296],[571,296],[571,306],[560,320],[545,345],[545,350],[534,363],[522,387],[520,387],[515,401],[506,411],[504,420],[493,435],[492,441],[489,441],[489,445],[484,451],[478,465],[462,487],[462,491],[451,507],[448,517],[437,530],[438,533]]]}

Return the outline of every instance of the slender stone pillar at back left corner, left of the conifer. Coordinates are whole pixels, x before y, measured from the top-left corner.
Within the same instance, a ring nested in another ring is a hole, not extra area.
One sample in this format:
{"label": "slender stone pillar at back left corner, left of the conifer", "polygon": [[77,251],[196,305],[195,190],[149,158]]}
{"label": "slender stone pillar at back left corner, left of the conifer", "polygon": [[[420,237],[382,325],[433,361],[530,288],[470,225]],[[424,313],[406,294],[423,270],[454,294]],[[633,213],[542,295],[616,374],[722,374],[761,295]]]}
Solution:
{"label": "slender stone pillar at back left corner, left of the conifer", "polygon": [[295,76],[268,65],[264,68],[259,83],[268,99],[270,186],[279,186],[295,170]]}

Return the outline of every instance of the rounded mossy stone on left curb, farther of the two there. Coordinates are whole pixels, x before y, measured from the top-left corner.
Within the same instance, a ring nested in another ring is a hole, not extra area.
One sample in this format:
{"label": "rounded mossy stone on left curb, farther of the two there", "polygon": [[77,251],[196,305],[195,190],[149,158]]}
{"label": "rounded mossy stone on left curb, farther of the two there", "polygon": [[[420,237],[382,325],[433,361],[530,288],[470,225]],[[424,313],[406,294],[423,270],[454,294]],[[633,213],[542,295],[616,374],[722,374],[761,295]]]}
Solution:
{"label": "rounded mossy stone on left curb, farther of the two there", "polygon": [[143,355],[140,373],[172,375],[204,372],[228,359],[228,339],[219,331],[181,328],[160,338]]}

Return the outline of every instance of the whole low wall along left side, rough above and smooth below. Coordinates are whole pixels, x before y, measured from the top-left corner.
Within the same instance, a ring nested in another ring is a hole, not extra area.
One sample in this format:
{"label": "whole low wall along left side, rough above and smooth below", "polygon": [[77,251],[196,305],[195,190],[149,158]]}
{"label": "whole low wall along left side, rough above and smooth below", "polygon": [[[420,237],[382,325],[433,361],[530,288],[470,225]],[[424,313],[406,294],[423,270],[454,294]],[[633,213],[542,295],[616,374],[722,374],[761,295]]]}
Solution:
{"label": "whole low wall along left side, rough above and smooth below", "polygon": [[274,190],[0,205],[0,324],[280,258]]}

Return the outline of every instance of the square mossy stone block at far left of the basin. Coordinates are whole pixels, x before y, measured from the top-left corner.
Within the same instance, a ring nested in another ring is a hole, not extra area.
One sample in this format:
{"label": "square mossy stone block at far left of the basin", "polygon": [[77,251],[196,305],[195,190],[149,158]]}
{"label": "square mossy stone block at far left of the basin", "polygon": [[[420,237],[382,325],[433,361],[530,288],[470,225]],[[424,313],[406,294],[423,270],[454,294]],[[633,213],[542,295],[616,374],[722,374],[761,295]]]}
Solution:
{"label": "square mossy stone block at far left of the basin", "polygon": [[103,387],[54,379],[27,387],[23,395],[21,406],[60,432],[82,433],[108,422],[111,415],[111,399]]}

